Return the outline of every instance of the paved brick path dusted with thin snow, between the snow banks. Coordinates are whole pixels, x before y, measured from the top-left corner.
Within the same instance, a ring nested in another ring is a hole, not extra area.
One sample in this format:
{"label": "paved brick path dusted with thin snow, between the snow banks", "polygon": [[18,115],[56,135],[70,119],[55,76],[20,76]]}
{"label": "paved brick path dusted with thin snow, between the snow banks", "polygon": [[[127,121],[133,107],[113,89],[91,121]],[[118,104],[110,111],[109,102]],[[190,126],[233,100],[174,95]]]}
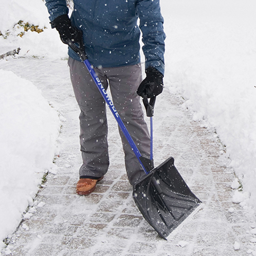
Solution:
{"label": "paved brick path dusted with thin snow, between the snow banks", "polygon": [[[243,209],[232,203],[230,185],[234,174],[227,167],[229,159],[221,154],[225,149],[214,132],[192,121],[181,97],[169,94],[166,88],[157,98],[155,165],[173,156],[176,168],[203,201],[204,208],[164,241],[133,202],[117,124],[111,113],[108,113],[109,172],[94,193],[76,195],[81,165],[79,109],[66,61],[9,59],[0,61],[0,68],[32,81],[63,120],[60,153],[55,160],[58,173],[48,174],[45,186],[28,211],[32,216],[24,218],[12,235],[11,255],[248,255],[247,251],[253,248],[249,243],[251,223]],[[239,250],[234,250],[235,242],[240,244]]]}

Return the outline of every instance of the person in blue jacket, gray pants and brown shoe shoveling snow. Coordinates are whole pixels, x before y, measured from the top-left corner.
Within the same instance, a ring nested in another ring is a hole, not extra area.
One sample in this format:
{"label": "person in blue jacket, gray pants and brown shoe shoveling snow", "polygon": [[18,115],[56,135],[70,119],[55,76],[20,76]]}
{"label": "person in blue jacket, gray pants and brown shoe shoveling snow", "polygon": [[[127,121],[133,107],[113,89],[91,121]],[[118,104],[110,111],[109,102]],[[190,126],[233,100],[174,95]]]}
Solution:
{"label": "person in blue jacket, gray pants and brown shoe shoveling snow", "polygon": [[[51,27],[58,30],[62,42],[83,40],[89,62],[104,88],[110,88],[115,108],[141,155],[150,156],[150,136],[139,96],[152,98],[163,89],[166,35],[159,0],[74,0],[70,18],[66,0],[45,2]],[[141,31],[146,74],[143,81]],[[87,195],[109,167],[106,106],[78,54],[69,48],[68,56],[70,79],[81,110],[83,164],[77,194]],[[120,129],[119,133],[127,177],[134,185],[145,173]]]}

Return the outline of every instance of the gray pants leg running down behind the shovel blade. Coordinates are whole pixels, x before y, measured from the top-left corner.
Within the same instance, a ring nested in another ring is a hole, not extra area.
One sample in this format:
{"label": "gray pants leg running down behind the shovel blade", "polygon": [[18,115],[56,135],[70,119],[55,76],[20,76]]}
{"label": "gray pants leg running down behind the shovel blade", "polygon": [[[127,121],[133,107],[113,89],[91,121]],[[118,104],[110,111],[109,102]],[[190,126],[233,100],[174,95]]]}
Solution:
{"label": "gray pants leg running down behind the shovel blade", "polygon": [[[141,155],[150,156],[150,136],[147,124],[144,121],[140,97],[136,90],[142,81],[141,66],[132,65],[115,68],[104,68],[113,103],[124,125],[129,131]],[[130,144],[119,129],[125,154],[127,177],[133,185],[145,175]]]}

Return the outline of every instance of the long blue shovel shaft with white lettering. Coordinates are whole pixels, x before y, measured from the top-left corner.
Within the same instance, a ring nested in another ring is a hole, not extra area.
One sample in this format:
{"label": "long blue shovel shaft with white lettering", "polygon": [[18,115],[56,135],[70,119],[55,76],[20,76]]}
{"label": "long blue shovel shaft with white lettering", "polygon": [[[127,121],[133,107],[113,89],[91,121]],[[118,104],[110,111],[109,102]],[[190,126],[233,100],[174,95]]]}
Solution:
{"label": "long blue shovel shaft with white lettering", "polygon": [[141,154],[136,146],[136,144],[134,143],[131,135],[129,134],[129,132],[127,131],[122,119],[120,118],[120,116],[118,115],[117,111],[116,111],[116,108],[112,102],[112,100],[108,97],[107,93],[106,93],[106,90],[104,89],[102,83],[100,82],[100,79],[97,77],[92,65],[89,63],[88,59],[84,60],[83,63],[85,64],[86,68],[88,69],[89,73],[90,73],[90,76],[92,76],[95,84],[97,85],[102,97],[104,98],[104,100],[106,101],[109,109],[111,110],[113,116],[115,117],[115,119],[117,120],[117,123],[120,127],[120,129],[122,130],[125,138],[127,139],[127,141],[129,142],[129,144],[131,145],[131,148],[132,150],[134,151],[136,157],[138,158],[140,164],[141,164],[141,167],[143,168],[144,172],[146,174],[149,174],[149,172],[145,169],[145,167],[143,166],[141,160],[140,160],[140,157],[141,157]]}

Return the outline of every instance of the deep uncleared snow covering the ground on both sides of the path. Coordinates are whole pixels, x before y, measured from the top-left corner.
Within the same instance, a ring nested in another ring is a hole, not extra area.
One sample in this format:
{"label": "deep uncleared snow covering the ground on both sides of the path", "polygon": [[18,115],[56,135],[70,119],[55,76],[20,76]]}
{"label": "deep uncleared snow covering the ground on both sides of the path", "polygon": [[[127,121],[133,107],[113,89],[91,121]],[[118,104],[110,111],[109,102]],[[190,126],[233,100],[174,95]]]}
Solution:
{"label": "deep uncleared snow covering the ground on both sides of the path", "polygon": [[[243,185],[234,202],[256,210],[256,17],[254,0],[161,0],[167,34],[165,89],[181,94],[194,120],[215,129],[226,145],[231,167]],[[39,25],[42,33],[17,22]],[[15,26],[14,26],[15,25]],[[14,28],[13,28],[14,26]],[[66,46],[50,29],[41,0],[0,3],[0,54],[67,57]],[[12,58],[12,57],[9,57]],[[6,60],[1,60],[6,61]],[[29,70],[27,70],[29,72]],[[60,127],[56,111],[35,86],[0,70],[0,240],[12,233],[33,204],[46,170],[53,168]],[[233,183],[234,188],[239,182]],[[3,207],[4,206],[4,207]],[[3,243],[2,243],[3,245]]]}

